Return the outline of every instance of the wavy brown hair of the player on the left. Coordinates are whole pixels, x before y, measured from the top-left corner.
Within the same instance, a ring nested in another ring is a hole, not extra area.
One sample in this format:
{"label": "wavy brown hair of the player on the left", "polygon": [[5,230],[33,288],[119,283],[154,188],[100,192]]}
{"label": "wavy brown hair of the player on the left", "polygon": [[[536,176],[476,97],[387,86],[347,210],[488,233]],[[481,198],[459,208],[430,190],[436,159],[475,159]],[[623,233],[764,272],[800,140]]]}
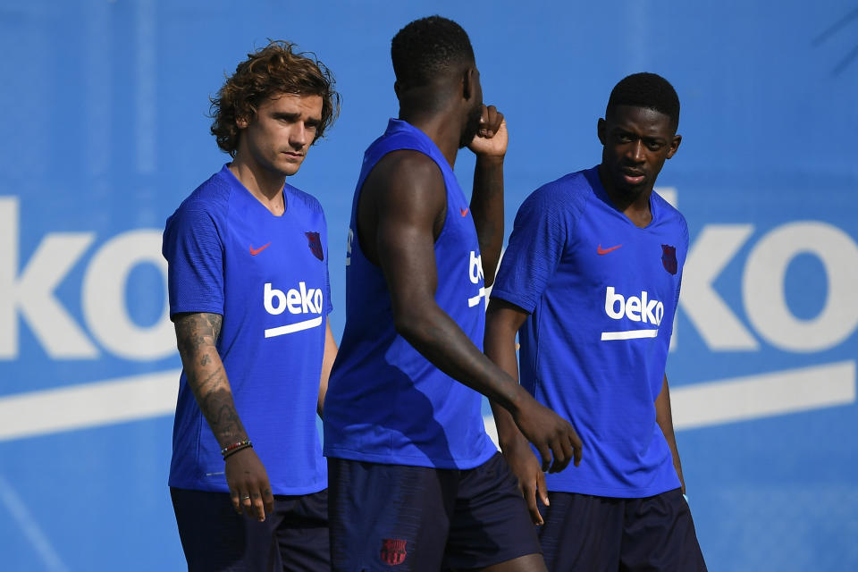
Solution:
{"label": "wavy brown hair of the player on the left", "polygon": [[212,98],[212,135],[224,152],[235,156],[240,135],[236,120],[252,117],[267,97],[285,93],[322,97],[322,123],[315,130],[314,143],[340,114],[340,94],[333,88],[331,71],[315,54],[296,53],[294,47],[290,42],[270,41],[248,54]]}

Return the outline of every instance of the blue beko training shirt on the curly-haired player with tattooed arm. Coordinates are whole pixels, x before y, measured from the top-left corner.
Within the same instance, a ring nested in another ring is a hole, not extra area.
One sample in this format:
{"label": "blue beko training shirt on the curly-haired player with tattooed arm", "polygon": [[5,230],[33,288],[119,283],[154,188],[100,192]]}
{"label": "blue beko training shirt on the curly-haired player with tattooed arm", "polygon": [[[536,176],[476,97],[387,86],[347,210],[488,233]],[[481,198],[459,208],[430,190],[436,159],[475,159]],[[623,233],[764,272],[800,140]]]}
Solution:
{"label": "blue beko training shirt on the curly-haired player with tattooed arm", "polygon": [[[217,350],[274,494],[327,487],[316,404],[331,312],[319,202],[286,184],[275,216],[224,165],[167,219],[170,313],[223,315]],[[223,458],[184,372],[170,485],[227,492]]]}

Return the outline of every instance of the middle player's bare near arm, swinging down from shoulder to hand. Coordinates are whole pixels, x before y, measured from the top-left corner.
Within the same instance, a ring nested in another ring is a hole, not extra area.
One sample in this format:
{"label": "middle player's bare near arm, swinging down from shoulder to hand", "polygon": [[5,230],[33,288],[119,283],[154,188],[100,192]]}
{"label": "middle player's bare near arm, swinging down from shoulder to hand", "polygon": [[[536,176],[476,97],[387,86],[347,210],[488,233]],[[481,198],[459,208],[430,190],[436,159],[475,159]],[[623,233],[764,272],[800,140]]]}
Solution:
{"label": "middle player's bare near arm, swinging down from shoulder to hand", "polygon": [[434,240],[445,206],[442,173],[416,151],[385,156],[361,190],[358,240],[383,271],[396,330],[444,373],[509,409],[544,468],[561,470],[572,458],[571,426],[492,364],[435,302]]}

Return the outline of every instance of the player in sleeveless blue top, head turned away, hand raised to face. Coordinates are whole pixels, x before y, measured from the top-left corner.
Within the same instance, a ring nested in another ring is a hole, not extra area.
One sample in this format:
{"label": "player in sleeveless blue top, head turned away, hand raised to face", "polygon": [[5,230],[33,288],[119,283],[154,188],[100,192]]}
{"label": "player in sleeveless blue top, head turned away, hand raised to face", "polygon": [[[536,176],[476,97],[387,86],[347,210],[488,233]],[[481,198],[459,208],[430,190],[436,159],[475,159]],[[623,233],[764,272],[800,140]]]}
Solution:
{"label": "player in sleeveless blue top, head turned away, hand raised to face", "polygon": [[[509,408],[543,468],[580,456],[571,425],[482,353],[506,126],[483,105],[457,23],[413,21],[391,56],[400,114],[366,150],[357,181],[346,326],[324,406],[332,567],[544,570],[477,392]],[[470,203],[453,174],[466,146],[476,155]]]}

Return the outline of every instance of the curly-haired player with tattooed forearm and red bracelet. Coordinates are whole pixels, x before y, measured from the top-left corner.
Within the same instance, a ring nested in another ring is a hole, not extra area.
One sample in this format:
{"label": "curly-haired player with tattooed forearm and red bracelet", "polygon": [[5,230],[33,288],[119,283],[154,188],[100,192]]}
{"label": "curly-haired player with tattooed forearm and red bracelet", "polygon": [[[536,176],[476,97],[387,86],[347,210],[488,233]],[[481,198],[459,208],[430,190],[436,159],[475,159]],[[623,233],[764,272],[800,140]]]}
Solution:
{"label": "curly-haired player with tattooed forearm and red bracelet", "polygon": [[336,356],[327,230],[285,180],[339,102],[314,55],[249,54],[212,102],[232,160],[167,219],[183,366],[170,492],[189,570],[330,569],[315,426]]}

